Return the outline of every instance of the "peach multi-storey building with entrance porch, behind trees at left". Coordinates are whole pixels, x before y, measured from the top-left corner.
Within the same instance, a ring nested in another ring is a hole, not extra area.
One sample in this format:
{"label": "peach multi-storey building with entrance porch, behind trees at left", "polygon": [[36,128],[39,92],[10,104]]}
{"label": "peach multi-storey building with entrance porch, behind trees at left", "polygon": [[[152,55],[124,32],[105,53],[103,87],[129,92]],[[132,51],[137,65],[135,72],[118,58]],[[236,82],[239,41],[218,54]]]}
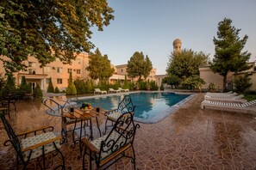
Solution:
{"label": "peach multi-storey building with entrance porch, behind trees at left", "polygon": [[[25,76],[32,89],[38,83],[41,89],[46,91],[51,78],[54,88],[58,87],[60,91],[66,90],[70,72],[72,72],[73,80],[89,78],[89,72],[85,70],[89,64],[88,57],[87,53],[80,53],[75,60],[72,60],[72,64],[62,64],[57,58],[56,61],[42,68],[36,58],[28,57],[28,61],[24,62],[28,66],[27,71],[19,71],[14,74],[16,86],[21,84],[22,76]],[[5,73],[2,62],[0,62],[0,73],[2,76]]]}

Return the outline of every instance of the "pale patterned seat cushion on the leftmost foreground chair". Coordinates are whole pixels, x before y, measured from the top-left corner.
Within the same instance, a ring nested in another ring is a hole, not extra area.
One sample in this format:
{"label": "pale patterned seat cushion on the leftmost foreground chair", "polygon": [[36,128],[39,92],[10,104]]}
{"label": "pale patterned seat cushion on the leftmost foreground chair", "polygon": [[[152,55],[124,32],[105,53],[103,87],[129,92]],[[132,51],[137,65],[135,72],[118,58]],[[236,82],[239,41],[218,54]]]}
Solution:
{"label": "pale patterned seat cushion on the leftmost foreground chair", "polygon": [[[56,137],[56,136],[53,134],[53,132],[42,133],[42,134],[36,135],[34,137],[27,137],[27,138],[22,139],[21,148],[26,149],[30,146],[34,146],[35,144],[46,142],[47,140],[53,139],[54,137]],[[56,144],[57,148],[60,149],[59,141],[56,141],[54,143]],[[45,145],[45,154],[52,152],[54,150],[55,150],[55,147],[54,147],[53,143],[49,143],[49,144]],[[23,153],[25,161],[28,161],[29,154],[30,154],[30,150]],[[43,154],[42,147],[33,149],[30,159],[37,158],[37,157],[41,156],[42,154]]]}

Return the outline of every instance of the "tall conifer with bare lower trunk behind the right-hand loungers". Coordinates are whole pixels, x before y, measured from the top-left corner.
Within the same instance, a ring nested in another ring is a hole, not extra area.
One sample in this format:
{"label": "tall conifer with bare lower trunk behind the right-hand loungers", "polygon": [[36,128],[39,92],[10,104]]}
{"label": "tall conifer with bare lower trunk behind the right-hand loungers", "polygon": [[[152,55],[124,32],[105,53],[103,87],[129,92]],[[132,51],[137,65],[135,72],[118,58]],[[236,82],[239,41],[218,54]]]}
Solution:
{"label": "tall conifer with bare lower trunk behind the right-hand loungers", "polygon": [[213,39],[215,44],[215,58],[210,69],[223,76],[223,89],[226,88],[229,71],[239,72],[250,68],[247,64],[251,53],[242,52],[247,43],[248,36],[239,37],[240,29],[231,25],[232,21],[224,18],[218,24],[217,37]]}

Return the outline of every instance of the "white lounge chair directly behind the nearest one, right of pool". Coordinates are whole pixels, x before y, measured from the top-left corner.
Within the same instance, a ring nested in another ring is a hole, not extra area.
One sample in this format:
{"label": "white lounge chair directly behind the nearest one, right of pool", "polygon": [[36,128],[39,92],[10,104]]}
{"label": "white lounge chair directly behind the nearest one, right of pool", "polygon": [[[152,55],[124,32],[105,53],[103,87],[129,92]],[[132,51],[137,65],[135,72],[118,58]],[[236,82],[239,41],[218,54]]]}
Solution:
{"label": "white lounge chair directly behind the nearest one, right of pool", "polygon": [[236,103],[246,103],[247,100],[242,99],[244,97],[243,94],[240,95],[235,95],[235,96],[210,96],[205,94],[204,95],[204,100],[213,100],[213,101],[226,101],[226,102],[236,102]]}

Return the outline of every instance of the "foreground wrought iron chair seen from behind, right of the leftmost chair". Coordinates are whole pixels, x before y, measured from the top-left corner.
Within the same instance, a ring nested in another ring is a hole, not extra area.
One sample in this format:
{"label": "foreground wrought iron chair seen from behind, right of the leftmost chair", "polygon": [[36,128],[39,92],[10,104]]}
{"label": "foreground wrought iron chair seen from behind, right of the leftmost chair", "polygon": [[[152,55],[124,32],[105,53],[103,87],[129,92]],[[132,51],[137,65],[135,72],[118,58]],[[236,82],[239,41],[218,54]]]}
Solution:
{"label": "foreground wrought iron chair seen from behind, right of the leftmost chair", "polygon": [[[116,124],[114,124],[109,134],[91,142],[84,137],[82,139],[84,143],[83,169],[85,168],[84,157],[88,152],[90,155],[90,169],[93,160],[96,163],[97,169],[100,167],[106,169],[123,156],[130,158],[132,163],[134,163],[134,169],[136,169],[133,144],[136,129],[139,127],[139,124],[134,124],[133,113],[127,112],[116,120]],[[127,155],[126,151],[128,149],[132,149],[132,155]]]}

